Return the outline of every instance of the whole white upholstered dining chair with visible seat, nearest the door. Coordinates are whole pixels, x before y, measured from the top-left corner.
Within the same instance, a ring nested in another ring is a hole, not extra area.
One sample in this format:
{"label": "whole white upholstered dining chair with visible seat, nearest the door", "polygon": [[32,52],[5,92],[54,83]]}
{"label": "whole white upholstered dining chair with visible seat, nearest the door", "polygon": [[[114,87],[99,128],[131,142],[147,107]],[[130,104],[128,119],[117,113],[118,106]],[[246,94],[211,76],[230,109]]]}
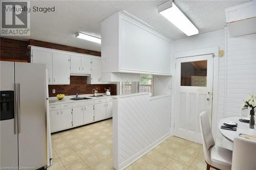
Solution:
{"label": "whole white upholstered dining chair with visible seat, nearest the door", "polygon": [[[200,129],[202,135],[203,152],[206,169],[230,170],[232,162],[232,151],[217,147],[211,133],[208,114],[204,111],[200,114]],[[241,170],[241,169],[240,169]]]}

